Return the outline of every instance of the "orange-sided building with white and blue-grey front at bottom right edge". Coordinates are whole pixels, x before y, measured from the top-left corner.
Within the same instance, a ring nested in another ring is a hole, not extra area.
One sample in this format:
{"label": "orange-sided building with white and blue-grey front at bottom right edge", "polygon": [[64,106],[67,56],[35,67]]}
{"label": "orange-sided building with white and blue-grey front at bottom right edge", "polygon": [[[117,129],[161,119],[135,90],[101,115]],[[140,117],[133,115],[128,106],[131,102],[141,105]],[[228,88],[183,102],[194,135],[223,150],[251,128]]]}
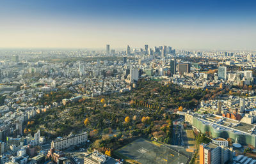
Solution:
{"label": "orange-sided building with white and blue-grey front at bottom right edge", "polygon": [[210,142],[200,144],[199,159],[200,164],[224,164],[232,160],[232,148],[224,147]]}

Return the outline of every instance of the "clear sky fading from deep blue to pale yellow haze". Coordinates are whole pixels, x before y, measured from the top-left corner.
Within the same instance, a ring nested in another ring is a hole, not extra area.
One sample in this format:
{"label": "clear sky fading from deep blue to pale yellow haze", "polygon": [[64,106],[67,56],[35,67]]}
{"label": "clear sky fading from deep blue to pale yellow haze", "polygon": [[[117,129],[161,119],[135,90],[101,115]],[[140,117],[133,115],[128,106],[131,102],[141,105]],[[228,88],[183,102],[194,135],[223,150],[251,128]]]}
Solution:
{"label": "clear sky fading from deep blue to pale yellow haze", "polygon": [[256,50],[256,1],[1,0],[1,48]]}

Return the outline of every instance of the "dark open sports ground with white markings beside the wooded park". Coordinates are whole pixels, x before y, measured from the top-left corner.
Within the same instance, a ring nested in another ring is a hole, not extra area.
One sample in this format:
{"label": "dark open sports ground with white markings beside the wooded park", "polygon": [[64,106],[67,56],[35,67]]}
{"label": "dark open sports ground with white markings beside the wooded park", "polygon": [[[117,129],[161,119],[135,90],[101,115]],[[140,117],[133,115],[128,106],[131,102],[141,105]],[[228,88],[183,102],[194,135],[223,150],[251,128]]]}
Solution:
{"label": "dark open sports ground with white markings beside the wooded park", "polygon": [[125,160],[136,161],[141,164],[185,164],[188,162],[188,158],[177,151],[143,138],[134,140],[116,152],[117,156],[119,155]]}

